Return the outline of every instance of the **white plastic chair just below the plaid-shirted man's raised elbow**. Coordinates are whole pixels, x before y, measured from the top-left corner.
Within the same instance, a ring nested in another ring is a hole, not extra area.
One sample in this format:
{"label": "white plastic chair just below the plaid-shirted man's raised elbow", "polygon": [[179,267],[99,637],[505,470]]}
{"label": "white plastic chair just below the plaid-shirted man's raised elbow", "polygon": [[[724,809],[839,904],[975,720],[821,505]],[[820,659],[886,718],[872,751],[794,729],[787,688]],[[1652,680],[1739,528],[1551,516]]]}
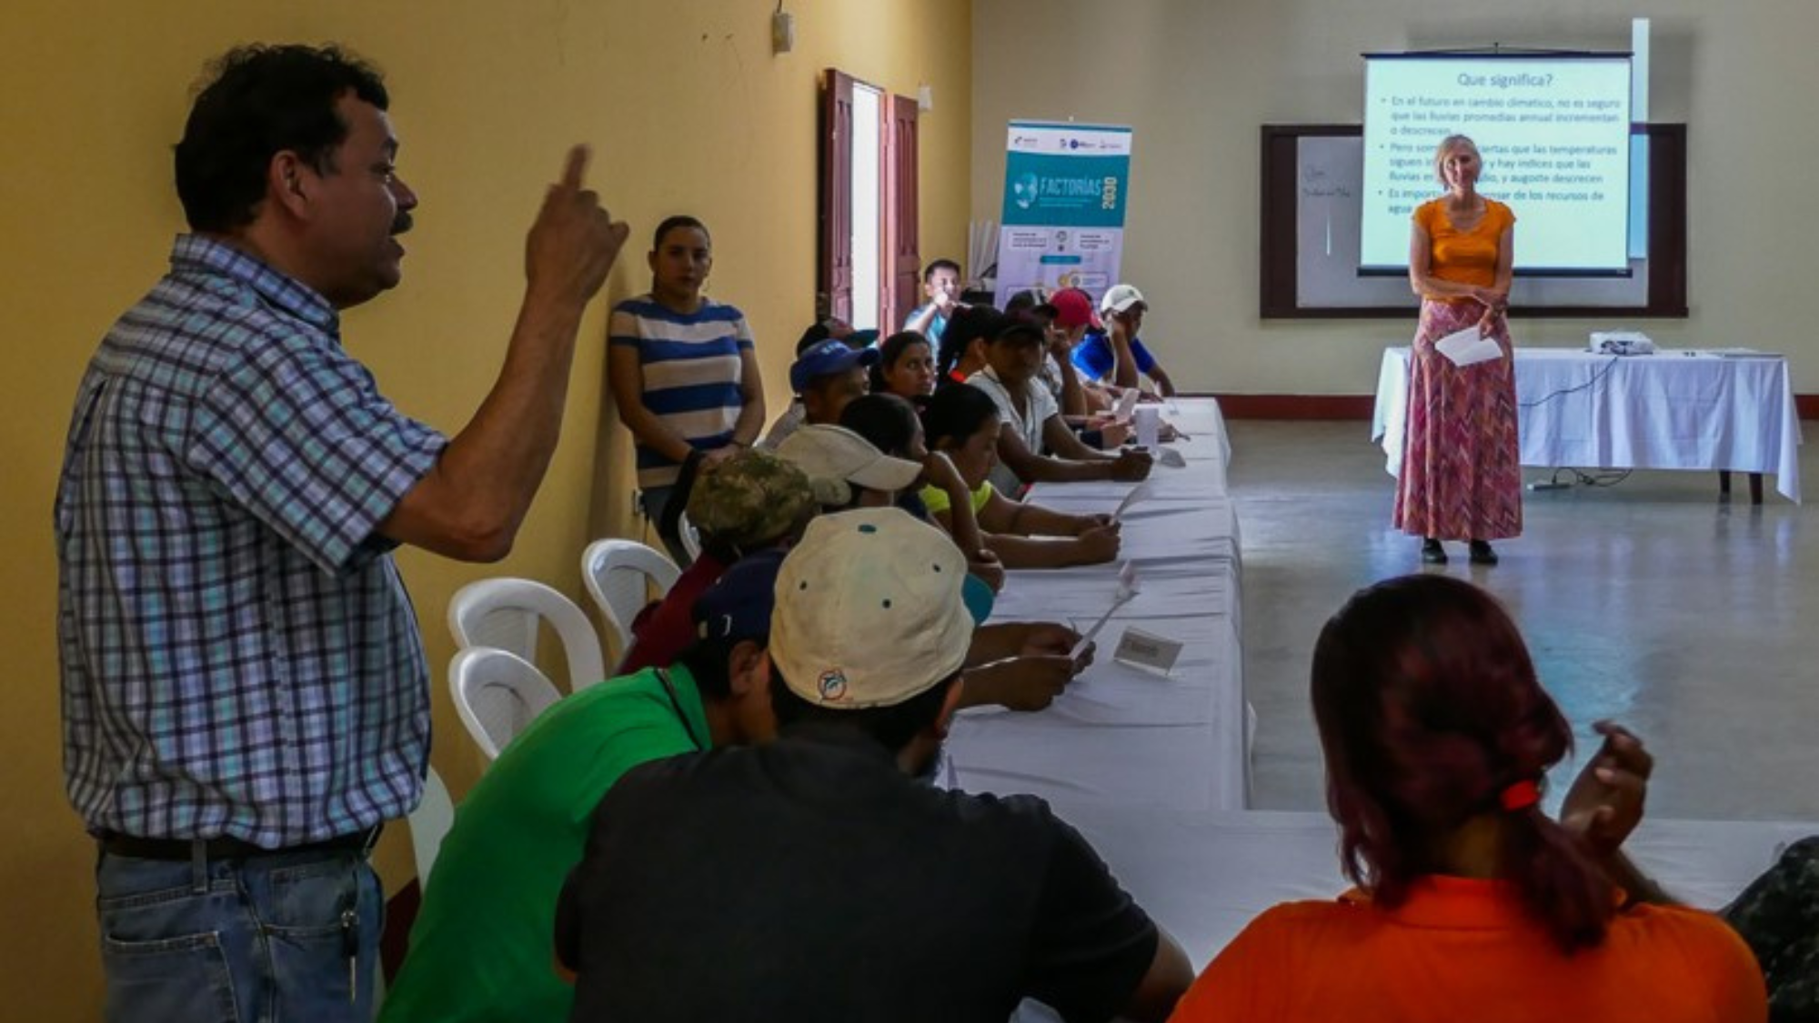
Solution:
{"label": "white plastic chair just below the plaid-shirted man's raised elbow", "polygon": [[606,681],[600,633],[588,612],[562,593],[529,579],[480,579],[449,599],[449,632],[455,646],[491,646],[537,663],[537,626],[548,621],[568,655],[569,690],[580,692]]}

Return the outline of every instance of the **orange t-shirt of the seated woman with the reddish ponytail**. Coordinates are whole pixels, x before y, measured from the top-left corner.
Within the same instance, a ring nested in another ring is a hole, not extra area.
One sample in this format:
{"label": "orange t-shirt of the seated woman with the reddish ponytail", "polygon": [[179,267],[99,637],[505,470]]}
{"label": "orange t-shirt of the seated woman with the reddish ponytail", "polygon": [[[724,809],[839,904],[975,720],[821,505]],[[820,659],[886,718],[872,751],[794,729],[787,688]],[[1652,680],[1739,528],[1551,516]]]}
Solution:
{"label": "orange t-shirt of the seated woman with the reddish ponytail", "polygon": [[1239,934],[1182,1023],[1761,1023],[1755,956],[1712,914],[1635,907],[1566,956],[1504,881],[1426,877],[1382,910],[1346,892],[1282,903]]}

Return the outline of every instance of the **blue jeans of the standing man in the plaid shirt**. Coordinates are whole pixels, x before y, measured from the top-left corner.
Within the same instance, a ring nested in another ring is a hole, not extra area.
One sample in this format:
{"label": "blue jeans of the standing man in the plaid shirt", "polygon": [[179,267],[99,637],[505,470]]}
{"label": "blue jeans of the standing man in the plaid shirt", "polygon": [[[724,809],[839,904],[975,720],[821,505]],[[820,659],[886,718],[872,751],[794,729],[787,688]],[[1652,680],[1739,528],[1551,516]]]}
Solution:
{"label": "blue jeans of the standing man in the plaid shirt", "polygon": [[95,868],[109,1023],[369,1023],[384,890],[366,856]]}

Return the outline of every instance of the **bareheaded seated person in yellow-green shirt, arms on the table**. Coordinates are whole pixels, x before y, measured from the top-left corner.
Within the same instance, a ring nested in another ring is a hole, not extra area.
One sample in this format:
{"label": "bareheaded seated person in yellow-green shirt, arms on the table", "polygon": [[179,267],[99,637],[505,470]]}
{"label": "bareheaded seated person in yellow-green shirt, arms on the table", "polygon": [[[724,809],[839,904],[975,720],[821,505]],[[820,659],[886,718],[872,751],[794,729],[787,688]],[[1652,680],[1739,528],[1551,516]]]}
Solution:
{"label": "bareheaded seated person in yellow-green shirt, arms on the table", "polygon": [[951,488],[922,488],[922,502],[935,521],[953,530],[968,512],[984,533],[986,550],[1006,568],[1066,568],[1099,564],[1119,555],[1119,528],[1110,515],[1066,515],[1051,508],[1011,501],[991,481],[997,464],[999,406],[979,388],[959,386],[937,393],[924,411],[928,446],[946,455],[970,488],[957,504]]}

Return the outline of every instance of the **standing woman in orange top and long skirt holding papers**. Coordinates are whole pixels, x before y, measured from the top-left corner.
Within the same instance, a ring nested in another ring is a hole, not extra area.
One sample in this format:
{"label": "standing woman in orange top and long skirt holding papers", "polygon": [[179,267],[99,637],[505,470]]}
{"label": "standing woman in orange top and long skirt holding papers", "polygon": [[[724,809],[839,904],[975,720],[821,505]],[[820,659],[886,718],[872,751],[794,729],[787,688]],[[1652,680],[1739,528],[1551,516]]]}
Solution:
{"label": "standing woman in orange top and long skirt holding papers", "polygon": [[[1408,282],[1421,295],[1421,328],[1393,522],[1422,537],[1421,561],[1428,564],[1446,564],[1441,541],[1472,541],[1472,564],[1497,564],[1490,541],[1523,532],[1515,364],[1506,317],[1515,215],[1477,193],[1482,160],[1464,135],[1441,142],[1433,169],[1446,195],[1415,208],[1408,244]],[[1495,342],[1502,355],[1459,366],[1435,349],[1435,342],[1462,331]]]}

